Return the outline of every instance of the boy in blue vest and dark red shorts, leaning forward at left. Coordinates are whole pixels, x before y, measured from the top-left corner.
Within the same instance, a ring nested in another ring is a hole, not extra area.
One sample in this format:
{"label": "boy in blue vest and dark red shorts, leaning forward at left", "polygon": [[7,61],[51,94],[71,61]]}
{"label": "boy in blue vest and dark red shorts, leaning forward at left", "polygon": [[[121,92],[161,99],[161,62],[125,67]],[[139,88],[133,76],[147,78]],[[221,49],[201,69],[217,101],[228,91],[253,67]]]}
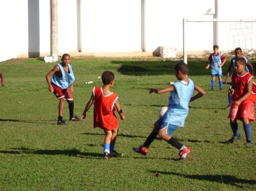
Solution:
{"label": "boy in blue vest and dark red shorts, leaning forward at left", "polygon": [[[69,54],[63,54],[61,63],[57,64],[51,71],[49,71],[45,78],[49,85],[49,91],[53,92],[59,100],[59,116],[57,125],[67,125],[63,120],[62,114],[64,110],[65,101],[68,103],[69,121],[81,121],[74,116],[74,100],[71,95],[74,91],[75,75],[72,66],[69,64]],[[50,76],[52,76],[50,80]]]}

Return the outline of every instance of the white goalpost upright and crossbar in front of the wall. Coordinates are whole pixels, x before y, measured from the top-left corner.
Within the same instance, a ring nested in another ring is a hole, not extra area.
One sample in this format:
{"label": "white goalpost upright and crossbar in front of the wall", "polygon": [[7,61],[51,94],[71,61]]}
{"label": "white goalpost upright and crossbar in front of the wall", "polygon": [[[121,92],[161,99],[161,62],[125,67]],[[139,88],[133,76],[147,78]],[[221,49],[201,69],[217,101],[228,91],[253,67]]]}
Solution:
{"label": "white goalpost upright and crossbar in front of the wall", "polygon": [[[187,64],[186,23],[187,22],[256,22],[256,19],[183,19],[183,62]],[[218,32],[216,34],[218,36]]]}

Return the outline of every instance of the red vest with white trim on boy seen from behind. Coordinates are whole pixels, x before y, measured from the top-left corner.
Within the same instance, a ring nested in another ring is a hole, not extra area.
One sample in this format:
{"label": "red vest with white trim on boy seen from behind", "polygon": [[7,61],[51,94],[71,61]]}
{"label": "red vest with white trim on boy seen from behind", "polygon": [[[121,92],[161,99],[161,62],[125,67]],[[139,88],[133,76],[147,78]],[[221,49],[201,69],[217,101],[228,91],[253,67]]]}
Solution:
{"label": "red vest with white trim on boy seen from behind", "polygon": [[105,128],[109,131],[118,127],[118,120],[114,113],[114,104],[118,96],[111,92],[104,96],[101,87],[93,88],[94,110],[93,110],[93,127]]}

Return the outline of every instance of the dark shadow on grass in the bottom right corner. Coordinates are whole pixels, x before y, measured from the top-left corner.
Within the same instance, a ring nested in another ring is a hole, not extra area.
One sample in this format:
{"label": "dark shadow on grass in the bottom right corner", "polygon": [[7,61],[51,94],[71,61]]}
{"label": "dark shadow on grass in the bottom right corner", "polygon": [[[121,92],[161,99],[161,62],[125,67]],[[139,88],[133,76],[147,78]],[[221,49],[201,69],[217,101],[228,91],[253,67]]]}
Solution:
{"label": "dark shadow on grass in the bottom right corner", "polygon": [[255,185],[256,181],[255,180],[245,180],[245,179],[238,179],[235,176],[230,176],[230,175],[199,175],[199,174],[192,174],[192,175],[187,175],[187,174],[180,174],[176,172],[165,172],[165,171],[150,171],[154,174],[168,174],[168,175],[177,175],[177,176],[183,176],[184,178],[188,179],[195,179],[195,180],[204,180],[204,181],[214,181],[214,182],[219,182],[222,184],[230,184],[233,186],[237,186],[240,188],[243,188],[241,185],[237,184],[249,184],[249,185]]}

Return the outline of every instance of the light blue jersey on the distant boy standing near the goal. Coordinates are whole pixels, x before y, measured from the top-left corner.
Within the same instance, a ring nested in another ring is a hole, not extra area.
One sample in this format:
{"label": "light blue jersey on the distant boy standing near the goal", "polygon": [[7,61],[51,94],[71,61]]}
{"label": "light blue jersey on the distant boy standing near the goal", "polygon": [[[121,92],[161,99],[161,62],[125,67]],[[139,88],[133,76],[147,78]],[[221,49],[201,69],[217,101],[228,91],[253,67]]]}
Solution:
{"label": "light blue jersey on the distant boy standing near the goal", "polygon": [[226,60],[222,53],[218,53],[214,55],[211,53],[208,60],[211,62],[211,74],[222,74],[222,67],[218,67],[218,65],[222,64],[223,60]]}

